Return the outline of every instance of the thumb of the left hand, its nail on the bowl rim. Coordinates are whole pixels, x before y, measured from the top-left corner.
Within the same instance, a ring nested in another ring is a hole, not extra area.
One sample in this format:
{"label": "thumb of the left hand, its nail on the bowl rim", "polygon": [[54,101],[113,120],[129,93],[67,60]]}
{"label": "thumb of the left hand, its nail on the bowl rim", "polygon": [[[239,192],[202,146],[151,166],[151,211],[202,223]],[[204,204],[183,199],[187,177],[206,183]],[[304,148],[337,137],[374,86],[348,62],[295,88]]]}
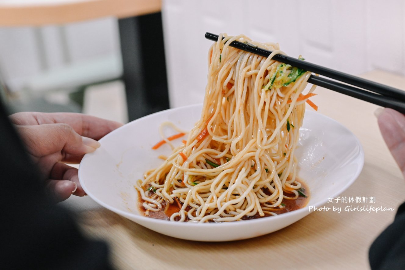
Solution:
{"label": "thumb of the left hand, its nail on the bowl rim", "polygon": [[100,147],[98,141],[80,136],[68,124],[19,125],[17,130],[28,151],[36,157],[58,152],[83,155]]}

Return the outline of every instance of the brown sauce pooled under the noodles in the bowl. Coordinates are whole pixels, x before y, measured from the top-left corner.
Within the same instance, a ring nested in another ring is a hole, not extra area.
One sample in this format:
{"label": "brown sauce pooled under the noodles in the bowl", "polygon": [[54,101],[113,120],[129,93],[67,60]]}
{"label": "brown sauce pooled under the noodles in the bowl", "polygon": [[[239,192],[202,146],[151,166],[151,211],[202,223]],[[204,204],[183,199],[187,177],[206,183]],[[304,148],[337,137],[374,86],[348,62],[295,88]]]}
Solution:
{"label": "brown sauce pooled under the noodles in the bowl", "polygon": [[[296,199],[283,198],[281,203],[284,205],[284,207],[283,208],[274,208],[274,210],[272,211],[273,213],[276,213],[277,215],[283,214],[283,213],[288,213],[288,212],[291,212],[294,210],[304,208],[307,205],[307,203],[309,202],[309,197],[310,197],[309,189],[302,180],[298,180],[298,181],[301,183],[302,193],[306,197],[298,196],[298,198],[296,198]],[[284,192],[284,195],[289,196],[290,194]],[[291,195],[294,195],[294,194],[291,194]],[[160,210],[158,212],[149,211],[148,215],[145,215],[146,209],[142,206],[142,204],[145,201],[142,200],[141,194],[139,193],[139,191],[138,191],[138,200],[139,200],[139,209],[141,210],[141,213],[143,213],[143,215],[145,217],[151,217],[153,219],[170,220],[170,217],[171,217],[171,215],[173,215],[173,213],[178,213],[180,211],[180,207],[177,204],[177,202],[174,202],[173,204],[168,204],[168,201],[165,200],[162,202],[162,210]],[[273,216],[273,215],[264,213],[263,217],[271,217],[271,216]],[[254,215],[252,217],[244,216],[244,217],[242,217],[242,220],[258,219],[258,218],[262,218],[262,217],[260,217],[259,213],[256,213],[256,215]],[[186,219],[186,221],[187,221],[187,219]],[[215,220],[212,220],[209,222],[215,222]]]}

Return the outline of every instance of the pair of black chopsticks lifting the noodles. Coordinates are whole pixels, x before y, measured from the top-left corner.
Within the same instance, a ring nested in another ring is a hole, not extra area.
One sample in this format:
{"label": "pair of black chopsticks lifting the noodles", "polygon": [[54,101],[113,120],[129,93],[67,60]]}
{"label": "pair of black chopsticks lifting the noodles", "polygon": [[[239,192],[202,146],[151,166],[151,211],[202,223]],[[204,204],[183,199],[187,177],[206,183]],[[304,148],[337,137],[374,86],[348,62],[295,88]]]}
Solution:
{"label": "pair of black chopsticks lifting the noodles", "polygon": [[[218,35],[207,32],[205,33],[205,38],[217,41]],[[241,43],[239,41],[233,41],[232,43],[230,43],[230,46],[264,57],[269,57],[269,55],[272,53],[272,51],[260,49],[258,47],[254,47],[246,43]],[[320,87],[324,87],[382,107],[392,108],[396,111],[399,111],[400,113],[405,114],[405,92],[400,89],[396,89],[394,87],[390,87],[388,85],[383,85],[380,83],[375,83],[373,81],[362,79],[330,68],[325,68],[323,66],[312,64],[307,61],[302,61],[287,55],[277,54],[273,57],[273,59],[350,85],[339,83],[337,81],[332,81],[324,77],[315,75],[311,75],[309,77],[308,83],[318,85]],[[358,87],[363,89],[360,89]]]}

